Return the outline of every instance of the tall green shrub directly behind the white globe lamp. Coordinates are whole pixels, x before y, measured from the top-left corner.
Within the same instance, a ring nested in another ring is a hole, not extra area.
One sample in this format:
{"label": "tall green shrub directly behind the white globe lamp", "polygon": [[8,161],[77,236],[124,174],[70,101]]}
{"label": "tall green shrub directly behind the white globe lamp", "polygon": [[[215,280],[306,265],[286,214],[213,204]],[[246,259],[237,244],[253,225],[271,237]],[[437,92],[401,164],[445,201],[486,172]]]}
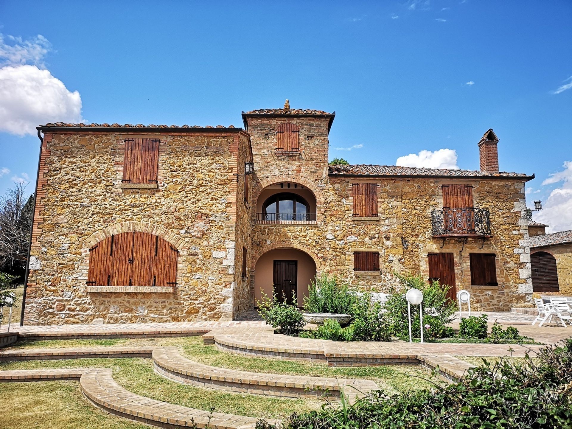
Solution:
{"label": "tall green shrub directly behind the white globe lamp", "polygon": [[[415,288],[423,292],[423,335],[427,338],[444,338],[452,336],[452,329],[446,325],[453,320],[456,305],[447,298],[447,285],[440,285],[438,281],[427,283],[422,276],[402,276],[395,274],[403,283],[402,288],[391,291],[385,308],[390,320],[390,331],[397,337],[409,337],[407,300],[405,293]],[[428,328],[427,328],[428,325]],[[411,332],[416,338],[421,336],[419,325],[419,308],[411,308]]]}

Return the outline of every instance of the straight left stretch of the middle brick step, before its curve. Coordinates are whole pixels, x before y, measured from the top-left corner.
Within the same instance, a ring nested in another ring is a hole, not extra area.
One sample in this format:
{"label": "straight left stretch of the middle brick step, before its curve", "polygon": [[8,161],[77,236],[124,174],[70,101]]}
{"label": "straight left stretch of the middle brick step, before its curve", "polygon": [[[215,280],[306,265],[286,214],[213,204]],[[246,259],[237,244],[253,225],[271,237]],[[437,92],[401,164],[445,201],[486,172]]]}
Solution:
{"label": "straight left stretch of the middle brick step, before its curve", "polygon": [[0,362],[7,360],[47,360],[82,358],[150,358],[153,347],[39,348],[0,351]]}

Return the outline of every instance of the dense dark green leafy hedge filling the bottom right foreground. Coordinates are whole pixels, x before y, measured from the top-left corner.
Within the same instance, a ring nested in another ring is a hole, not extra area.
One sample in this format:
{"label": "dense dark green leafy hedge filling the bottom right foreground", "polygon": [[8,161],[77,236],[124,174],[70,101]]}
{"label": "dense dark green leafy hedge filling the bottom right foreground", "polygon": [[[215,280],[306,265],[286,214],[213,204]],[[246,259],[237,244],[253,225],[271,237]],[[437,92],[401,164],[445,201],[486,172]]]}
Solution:
{"label": "dense dark green leafy hedge filling the bottom right foreground", "polygon": [[[572,339],[534,361],[506,358],[468,371],[460,382],[386,395],[374,391],[349,405],[293,414],[285,429],[553,429],[572,428]],[[256,429],[271,429],[257,423]]]}

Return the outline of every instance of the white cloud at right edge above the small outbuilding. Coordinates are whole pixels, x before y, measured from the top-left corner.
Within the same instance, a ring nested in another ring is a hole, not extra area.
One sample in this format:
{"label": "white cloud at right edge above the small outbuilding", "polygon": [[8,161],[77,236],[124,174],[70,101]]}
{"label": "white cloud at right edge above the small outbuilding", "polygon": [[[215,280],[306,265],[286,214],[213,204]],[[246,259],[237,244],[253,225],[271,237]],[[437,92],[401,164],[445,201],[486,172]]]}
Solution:
{"label": "white cloud at right edge above the small outbuilding", "polygon": [[550,232],[572,229],[572,161],[565,161],[563,168],[542,182],[542,185],[562,184],[550,192],[542,211],[534,216],[537,221],[550,225]]}

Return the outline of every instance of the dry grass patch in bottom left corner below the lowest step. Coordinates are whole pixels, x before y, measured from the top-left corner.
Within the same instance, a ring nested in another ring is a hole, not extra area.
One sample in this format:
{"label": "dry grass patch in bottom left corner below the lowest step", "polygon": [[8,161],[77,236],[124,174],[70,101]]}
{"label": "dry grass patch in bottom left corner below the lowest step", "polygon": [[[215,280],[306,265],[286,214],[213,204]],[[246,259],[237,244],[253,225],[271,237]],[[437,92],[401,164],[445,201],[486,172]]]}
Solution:
{"label": "dry grass patch in bottom left corner below the lowest step", "polygon": [[0,383],[5,429],[148,429],[94,407],[78,382]]}

